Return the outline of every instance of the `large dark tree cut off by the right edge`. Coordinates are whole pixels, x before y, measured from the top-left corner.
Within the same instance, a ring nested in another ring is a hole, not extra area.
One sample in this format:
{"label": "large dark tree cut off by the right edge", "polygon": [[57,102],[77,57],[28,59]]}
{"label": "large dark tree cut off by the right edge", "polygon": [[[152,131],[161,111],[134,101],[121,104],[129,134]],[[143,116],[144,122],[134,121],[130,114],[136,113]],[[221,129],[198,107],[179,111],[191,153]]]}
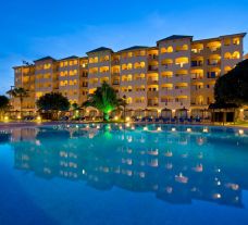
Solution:
{"label": "large dark tree cut off by the right edge", "polygon": [[227,74],[218,78],[214,86],[218,103],[248,104],[248,60],[238,63]]}

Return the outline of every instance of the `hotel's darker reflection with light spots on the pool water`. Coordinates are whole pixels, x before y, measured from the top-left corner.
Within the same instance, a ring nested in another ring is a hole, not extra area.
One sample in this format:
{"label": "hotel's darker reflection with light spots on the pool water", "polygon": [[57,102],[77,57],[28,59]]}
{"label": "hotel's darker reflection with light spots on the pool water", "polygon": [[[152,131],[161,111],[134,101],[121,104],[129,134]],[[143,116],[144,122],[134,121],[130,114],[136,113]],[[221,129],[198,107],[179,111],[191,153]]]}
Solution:
{"label": "hotel's darker reflection with light spots on the pool water", "polygon": [[203,200],[238,208],[248,188],[246,138],[123,130],[119,125],[20,128],[1,133],[0,139],[7,135],[15,168],[44,178],[85,180],[99,190],[149,191],[175,204]]}

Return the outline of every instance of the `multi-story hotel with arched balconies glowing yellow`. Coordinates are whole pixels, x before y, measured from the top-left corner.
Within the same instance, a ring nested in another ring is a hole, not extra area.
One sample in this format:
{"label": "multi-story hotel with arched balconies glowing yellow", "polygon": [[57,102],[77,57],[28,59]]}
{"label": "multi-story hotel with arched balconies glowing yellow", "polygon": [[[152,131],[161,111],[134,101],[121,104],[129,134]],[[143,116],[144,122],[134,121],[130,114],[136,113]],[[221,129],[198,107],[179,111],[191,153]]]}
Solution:
{"label": "multi-story hotel with arched balconies glowing yellow", "polygon": [[[35,101],[51,91],[80,104],[107,82],[120,97],[126,97],[133,115],[145,110],[158,115],[163,109],[173,115],[182,109],[199,115],[214,101],[216,78],[243,60],[245,35],[202,40],[173,35],[158,40],[154,47],[135,46],[117,52],[101,47],[83,58],[47,57],[32,65],[15,66],[15,87],[29,92],[23,103],[25,111],[35,111]],[[18,101],[13,102],[18,110]]]}

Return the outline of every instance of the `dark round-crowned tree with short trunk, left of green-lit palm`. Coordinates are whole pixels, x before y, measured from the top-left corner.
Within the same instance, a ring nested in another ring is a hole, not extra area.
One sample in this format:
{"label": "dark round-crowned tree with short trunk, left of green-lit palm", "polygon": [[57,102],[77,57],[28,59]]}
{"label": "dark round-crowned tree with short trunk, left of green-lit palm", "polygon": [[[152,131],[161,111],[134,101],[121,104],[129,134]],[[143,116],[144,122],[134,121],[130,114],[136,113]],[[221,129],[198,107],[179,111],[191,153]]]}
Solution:
{"label": "dark round-crowned tree with short trunk, left of green-lit palm", "polygon": [[67,111],[70,109],[69,99],[59,92],[41,96],[37,100],[36,105],[40,111],[50,112],[52,120],[58,120],[59,111]]}

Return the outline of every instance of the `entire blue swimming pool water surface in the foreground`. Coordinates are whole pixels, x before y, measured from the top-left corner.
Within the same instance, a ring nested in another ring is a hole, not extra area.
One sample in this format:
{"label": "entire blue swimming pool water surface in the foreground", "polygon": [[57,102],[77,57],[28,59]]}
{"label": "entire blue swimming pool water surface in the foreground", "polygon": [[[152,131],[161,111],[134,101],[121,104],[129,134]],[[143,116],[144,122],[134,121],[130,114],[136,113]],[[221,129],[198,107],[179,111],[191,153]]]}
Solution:
{"label": "entire blue swimming pool water surface in the foreground", "polygon": [[144,127],[0,132],[0,224],[248,224],[247,130]]}

